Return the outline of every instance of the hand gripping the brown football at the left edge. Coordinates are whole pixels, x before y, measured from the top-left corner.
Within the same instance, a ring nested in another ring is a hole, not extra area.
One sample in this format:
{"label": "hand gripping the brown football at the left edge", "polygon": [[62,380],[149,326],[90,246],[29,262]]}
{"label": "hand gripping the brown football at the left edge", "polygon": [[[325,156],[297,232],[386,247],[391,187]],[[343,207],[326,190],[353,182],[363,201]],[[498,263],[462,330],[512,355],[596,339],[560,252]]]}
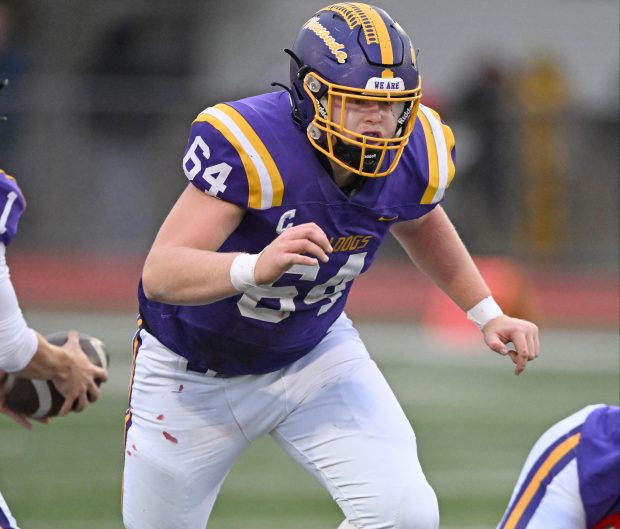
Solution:
{"label": "hand gripping the brown football at the left edge", "polygon": [[61,348],[63,365],[58,376],[52,378],[56,389],[65,397],[59,416],[67,415],[72,409],[81,412],[89,402],[95,402],[99,398],[99,387],[96,379],[106,381],[108,373],[105,369],[92,364],[80,347],[79,334],[76,331],[69,332],[69,339]]}

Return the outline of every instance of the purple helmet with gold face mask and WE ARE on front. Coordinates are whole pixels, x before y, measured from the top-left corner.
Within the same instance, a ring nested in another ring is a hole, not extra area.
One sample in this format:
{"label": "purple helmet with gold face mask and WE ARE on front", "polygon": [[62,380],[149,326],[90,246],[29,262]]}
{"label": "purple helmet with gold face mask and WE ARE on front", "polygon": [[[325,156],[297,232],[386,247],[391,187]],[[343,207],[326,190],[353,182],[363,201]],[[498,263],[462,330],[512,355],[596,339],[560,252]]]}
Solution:
{"label": "purple helmet with gold face mask and WE ARE on front", "polygon": [[[291,56],[293,117],[312,145],[361,176],[393,171],[422,95],[415,51],[400,25],[378,7],[341,2],[318,11],[301,28],[293,50],[286,51]],[[347,105],[377,103],[397,118],[391,137],[345,126]],[[334,106],[340,112],[334,113]]]}

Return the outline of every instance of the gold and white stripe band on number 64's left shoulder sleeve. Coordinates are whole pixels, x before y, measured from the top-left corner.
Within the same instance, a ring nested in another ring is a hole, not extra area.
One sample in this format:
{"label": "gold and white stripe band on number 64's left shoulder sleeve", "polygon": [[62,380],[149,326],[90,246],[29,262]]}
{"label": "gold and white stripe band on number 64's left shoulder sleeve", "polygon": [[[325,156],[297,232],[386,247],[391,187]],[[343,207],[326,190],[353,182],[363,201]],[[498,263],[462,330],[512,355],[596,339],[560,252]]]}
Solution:
{"label": "gold and white stripe band on number 64's left shoulder sleeve", "polygon": [[226,104],[207,108],[195,121],[206,121],[235,148],[248,179],[248,206],[268,209],[282,205],[284,182],[258,134],[234,108]]}

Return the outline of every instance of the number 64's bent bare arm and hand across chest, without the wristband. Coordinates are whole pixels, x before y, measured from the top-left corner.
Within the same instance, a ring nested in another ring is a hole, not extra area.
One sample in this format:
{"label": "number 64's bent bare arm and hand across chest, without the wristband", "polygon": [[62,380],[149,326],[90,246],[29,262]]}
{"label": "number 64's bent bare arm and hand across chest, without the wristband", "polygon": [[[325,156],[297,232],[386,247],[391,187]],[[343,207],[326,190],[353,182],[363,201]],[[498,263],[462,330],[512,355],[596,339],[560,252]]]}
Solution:
{"label": "number 64's bent bare arm and hand across chest, without the wristband", "polygon": [[[239,206],[188,185],[144,263],[142,286],[146,297],[175,305],[203,305],[239,294],[231,280],[231,265],[240,254],[217,250],[244,214]],[[286,229],[257,257],[253,280],[271,283],[295,264],[326,261],[329,251],[327,236],[316,224]]]}

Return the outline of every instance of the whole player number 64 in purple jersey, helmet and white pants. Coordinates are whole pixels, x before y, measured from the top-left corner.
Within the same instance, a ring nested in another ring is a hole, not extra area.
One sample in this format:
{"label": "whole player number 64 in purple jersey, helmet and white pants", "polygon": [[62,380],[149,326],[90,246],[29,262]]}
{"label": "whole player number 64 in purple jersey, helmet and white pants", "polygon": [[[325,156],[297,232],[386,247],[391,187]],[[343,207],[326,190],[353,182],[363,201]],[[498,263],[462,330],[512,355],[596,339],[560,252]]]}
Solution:
{"label": "whole player number 64 in purple jersey, helmet and white pants", "polygon": [[439,205],[454,137],[420,104],[403,29],[338,3],[286,51],[290,87],[192,124],[190,184],[144,265],[127,529],[204,529],[267,433],[338,502],[342,529],[438,527],[413,429],[343,312],[388,232],[516,374],[538,356],[536,326],[502,313]]}

